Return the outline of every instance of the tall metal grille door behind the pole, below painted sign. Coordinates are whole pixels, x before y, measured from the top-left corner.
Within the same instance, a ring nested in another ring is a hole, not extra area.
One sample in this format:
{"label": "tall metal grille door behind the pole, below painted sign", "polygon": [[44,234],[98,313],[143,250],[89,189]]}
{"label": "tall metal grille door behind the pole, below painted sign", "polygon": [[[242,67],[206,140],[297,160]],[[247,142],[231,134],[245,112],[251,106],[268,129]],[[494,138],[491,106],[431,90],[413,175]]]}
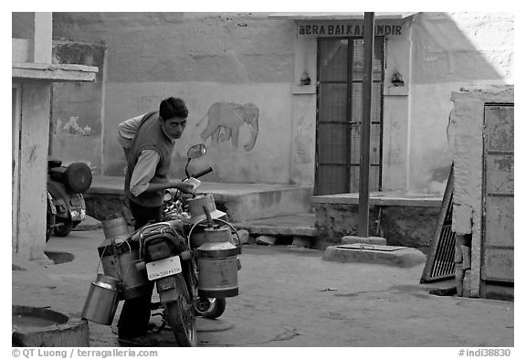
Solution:
{"label": "tall metal grille door behind the pole, below painted sign", "polygon": [[[358,192],[363,120],[363,38],[320,38],[316,195]],[[370,189],[382,185],[384,37],[375,37]],[[331,129],[330,129],[331,128]],[[337,166],[333,170],[328,168]],[[326,175],[342,175],[328,178]],[[335,186],[336,185],[336,186]]]}

